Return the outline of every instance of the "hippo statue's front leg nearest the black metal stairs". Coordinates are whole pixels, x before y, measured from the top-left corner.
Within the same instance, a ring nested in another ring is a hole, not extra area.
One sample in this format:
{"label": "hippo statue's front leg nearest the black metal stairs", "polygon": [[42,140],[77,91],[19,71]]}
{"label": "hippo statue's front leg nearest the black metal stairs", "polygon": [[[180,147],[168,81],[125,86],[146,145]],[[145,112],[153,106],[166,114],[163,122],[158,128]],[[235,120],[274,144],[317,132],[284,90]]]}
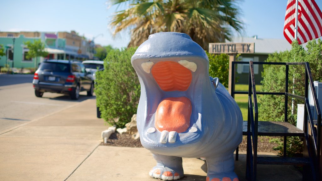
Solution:
{"label": "hippo statue's front leg nearest the black metal stairs", "polygon": [[208,172],[206,181],[238,181],[234,172],[233,154],[221,157],[206,157]]}

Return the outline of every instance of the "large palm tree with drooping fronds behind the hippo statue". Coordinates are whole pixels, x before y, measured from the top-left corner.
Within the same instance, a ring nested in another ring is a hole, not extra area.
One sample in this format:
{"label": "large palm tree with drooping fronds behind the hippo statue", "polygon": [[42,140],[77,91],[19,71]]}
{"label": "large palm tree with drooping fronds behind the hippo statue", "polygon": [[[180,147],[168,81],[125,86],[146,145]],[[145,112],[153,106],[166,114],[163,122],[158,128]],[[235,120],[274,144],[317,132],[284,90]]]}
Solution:
{"label": "large palm tree with drooping fronds behind the hippo statue", "polygon": [[[242,1],[242,0],[239,0]],[[238,0],[112,0],[114,5],[128,4],[116,12],[111,25],[114,35],[131,29],[129,46],[138,46],[157,32],[188,34],[205,50],[209,43],[231,40],[232,30],[242,33],[236,7]]]}

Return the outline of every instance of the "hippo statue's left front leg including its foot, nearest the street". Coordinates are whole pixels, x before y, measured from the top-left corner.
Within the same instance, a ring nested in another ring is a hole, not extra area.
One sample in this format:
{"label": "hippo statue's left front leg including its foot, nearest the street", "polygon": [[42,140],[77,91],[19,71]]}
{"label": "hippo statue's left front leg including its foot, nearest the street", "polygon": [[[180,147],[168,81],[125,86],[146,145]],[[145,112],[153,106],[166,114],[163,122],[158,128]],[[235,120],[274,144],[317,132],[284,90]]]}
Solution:
{"label": "hippo statue's left front leg including its foot, nearest the street", "polygon": [[162,180],[177,180],[183,177],[182,157],[160,155],[152,152],[156,160],[149,175]]}

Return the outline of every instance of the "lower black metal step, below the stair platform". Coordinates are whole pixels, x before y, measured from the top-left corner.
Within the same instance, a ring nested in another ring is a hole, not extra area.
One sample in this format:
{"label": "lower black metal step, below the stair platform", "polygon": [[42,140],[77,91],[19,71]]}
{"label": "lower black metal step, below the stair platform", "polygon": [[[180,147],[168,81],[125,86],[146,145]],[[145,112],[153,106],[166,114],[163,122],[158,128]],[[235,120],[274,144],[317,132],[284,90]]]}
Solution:
{"label": "lower black metal step, below the stair platform", "polygon": [[309,165],[309,158],[303,157],[257,157],[257,164],[260,165]]}

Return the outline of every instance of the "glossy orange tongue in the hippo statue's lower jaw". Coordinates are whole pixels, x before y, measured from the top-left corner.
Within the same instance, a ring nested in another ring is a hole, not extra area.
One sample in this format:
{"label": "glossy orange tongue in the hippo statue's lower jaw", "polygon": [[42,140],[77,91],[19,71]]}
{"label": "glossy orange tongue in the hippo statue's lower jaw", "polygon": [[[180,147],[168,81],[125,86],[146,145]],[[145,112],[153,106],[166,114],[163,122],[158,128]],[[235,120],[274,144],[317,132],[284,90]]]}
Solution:
{"label": "glossy orange tongue in the hippo statue's lower jaw", "polygon": [[185,132],[190,126],[191,107],[191,101],[186,97],[162,100],[156,109],[156,129],[177,133]]}

